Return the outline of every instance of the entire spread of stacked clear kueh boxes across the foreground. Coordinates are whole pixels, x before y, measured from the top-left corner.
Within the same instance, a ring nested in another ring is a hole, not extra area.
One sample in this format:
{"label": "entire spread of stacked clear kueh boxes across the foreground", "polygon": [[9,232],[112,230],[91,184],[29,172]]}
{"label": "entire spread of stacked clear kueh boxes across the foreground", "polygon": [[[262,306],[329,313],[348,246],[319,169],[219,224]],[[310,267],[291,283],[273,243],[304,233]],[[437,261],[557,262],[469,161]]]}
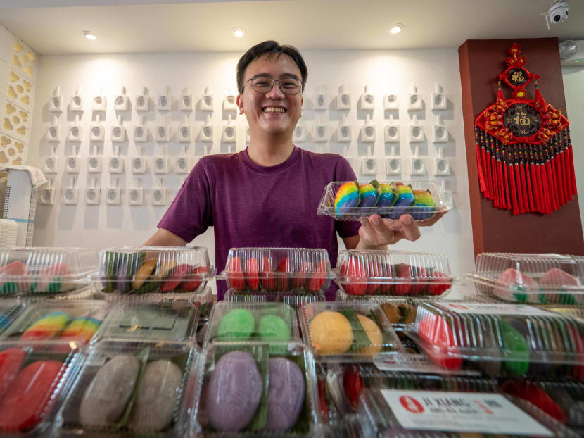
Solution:
{"label": "entire spread of stacked clear kueh boxes across the foreground", "polygon": [[480,254],[447,301],[441,254],[234,248],[213,305],[204,248],[8,251],[0,437],[584,433],[581,257]]}

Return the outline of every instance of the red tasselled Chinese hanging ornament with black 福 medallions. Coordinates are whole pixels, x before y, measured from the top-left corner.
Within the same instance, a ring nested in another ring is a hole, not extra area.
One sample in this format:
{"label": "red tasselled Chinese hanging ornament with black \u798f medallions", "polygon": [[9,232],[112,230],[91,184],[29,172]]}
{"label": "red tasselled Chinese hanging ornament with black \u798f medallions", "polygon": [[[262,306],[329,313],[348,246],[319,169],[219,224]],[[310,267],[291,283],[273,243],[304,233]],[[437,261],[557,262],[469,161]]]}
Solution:
{"label": "red tasselled Chinese hanging ornament with black \u798f medallions", "polygon": [[[497,101],[475,120],[474,135],[481,192],[497,208],[552,213],[576,194],[568,119],[547,104],[519,44],[513,44],[499,75]],[[535,80],[535,99],[526,85]],[[513,89],[505,99],[504,81]]]}

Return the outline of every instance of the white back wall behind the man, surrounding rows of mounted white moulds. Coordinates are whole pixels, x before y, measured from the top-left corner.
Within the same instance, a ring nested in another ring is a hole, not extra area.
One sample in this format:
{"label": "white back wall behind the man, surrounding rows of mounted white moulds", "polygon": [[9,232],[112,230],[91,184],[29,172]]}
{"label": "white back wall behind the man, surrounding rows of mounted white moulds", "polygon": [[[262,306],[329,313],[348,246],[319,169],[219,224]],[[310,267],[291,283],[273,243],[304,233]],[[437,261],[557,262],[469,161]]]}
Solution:
{"label": "white back wall behind the man, surrounding rows of mounted white moulds", "polygon": [[[419,124],[423,125],[426,141],[419,146],[420,156],[426,157],[429,176],[433,177],[433,159],[438,156],[436,146],[443,146],[443,156],[450,158],[452,173],[447,177],[438,177],[445,181],[445,187],[453,192],[455,208],[432,228],[426,228],[418,242],[400,242],[399,249],[417,249],[425,251],[445,252],[450,258],[455,275],[464,277],[466,271],[474,265],[472,249],[472,230],[468,196],[468,180],[466,176],[466,154],[464,149],[462,101],[459,80],[459,65],[456,49],[410,50],[410,51],[306,51],[303,53],[309,67],[308,87],[305,91],[303,119],[310,127],[315,123],[317,113],[322,114],[322,123],[336,126],[345,112],[336,111],[334,97],[338,87],[345,84],[353,95],[352,109],[347,113],[347,122],[353,125],[353,141],[348,149],[346,144],[334,141],[324,145],[307,142],[298,146],[313,151],[333,151],[350,158],[359,175],[360,158],[369,154],[378,158],[379,180],[396,180],[399,177],[386,177],[384,157],[396,154],[402,158],[402,179],[410,178],[410,157],[413,144],[407,141],[407,130],[412,114],[417,114]],[[146,189],[146,205],[129,206],[125,189],[133,186],[134,175],[129,173],[128,162],[125,163],[125,173],[120,175],[122,187],[122,204],[106,205],[103,189],[110,185],[110,175],[107,173],[107,156],[112,156],[113,146],[110,142],[110,126],[115,124],[113,100],[120,87],[127,88],[131,99],[132,111],[122,113],[123,124],[128,130],[128,139],[120,144],[121,156],[129,157],[137,154],[136,145],[132,141],[132,125],[139,123],[139,114],[134,109],[134,96],[142,92],[142,87],[148,87],[151,98],[156,99],[162,94],[165,85],[170,86],[173,96],[172,111],[167,112],[169,123],[174,132],[182,123],[184,114],[178,108],[178,96],[184,92],[186,85],[191,85],[191,92],[198,101],[203,94],[203,88],[210,85],[215,95],[215,111],[212,113],[212,123],[215,125],[215,142],[210,153],[228,151],[228,144],[220,142],[222,125],[226,123],[227,115],[222,112],[222,98],[227,88],[235,90],[235,65],[241,54],[229,53],[184,53],[184,54],[136,54],[136,55],[99,55],[99,56],[42,56],[39,63],[37,80],[36,104],[32,124],[31,146],[28,163],[42,166],[44,158],[51,154],[51,144],[46,141],[46,130],[51,125],[51,113],[48,102],[57,86],[61,87],[65,107],[70,96],[75,94],[78,85],[82,87],[85,98],[85,111],[81,118],[84,125],[84,140],[81,143],[79,156],[82,157],[79,175],[63,172],[64,159],[59,163],[60,171],[55,177],[57,197],[52,206],[39,204],[37,221],[34,231],[34,244],[58,246],[94,246],[103,248],[120,244],[142,244],[155,231],[155,225],[167,207],[151,206],[149,192],[153,187],[151,163],[148,173],[140,177]],[[440,111],[447,129],[450,131],[450,142],[433,144],[432,131],[436,123],[438,111],[431,111],[431,94],[435,91],[436,82],[443,85],[447,96],[447,110]],[[418,92],[424,99],[422,111],[407,111],[407,94],[412,92],[412,84],[417,85]],[[328,93],[328,111],[313,111],[312,101],[317,86],[324,85]],[[357,111],[357,101],[369,85],[370,92],[375,96],[375,110],[372,123],[376,126],[377,139],[373,150],[367,149],[367,144],[357,140],[360,127],[364,123],[365,112]],[[100,87],[108,97],[105,125],[106,142],[96,143],[99,154],[104,156],[104,169],[98,177],[98,185],[102,187],[102,199],[99,206],[84,204],[84,189],[91,181],[87,173],[86,159],[93,153],[94,144],[89,142],[89,125],[92,112],[90,101],[98,94]],[[400,111],[383,111],[383,94],[388,92],[400,97]],[[146,113],[146,124],[151,138],[156,123],[162,121],[163,113],[156,111],[154,101],[151,101],[150,111]],[[395,113],[401,130],[401,141],[395,151],[391,144],[383,142],[383,126],[388,124],[390,113]],[[72,154],[73,144],[65,141],[68,126],[75,121],[75,114],[65,109],[58,117],[63,139],[56,146],[56,155],[63,157]],[[195,111],[194,117],[189,115],[189,123],[193,125],[193,133],[198,134],[205,121],[205,113]],[[239,127],[236,150],[245,146],[245,121],[238,116],[236,124]],[[144,155],[158,155],[158,145],[150,141],[144,145]],[[167,155],[182,154],[182,145],[170,142],[167,145]],[[318,145],[318,146],[317,146]],[[205,144],[193,142],[189,145],[187,154],[200,157],[204,153]],[[360,179],[373,179],[370,176],[359,175]],[[69,187],[70,180],[75,177],[80,188],[80,202],[77,205],[61,204],[61,189]],[[164,178],[164,184],[170,191],[170,198],[176,194],[181,184],[182,176],[170,173]],[[170,199],[168,201],[170,204]],[[214,260],[212,230],[195,240],[196,244],[208,246],[210,256]]]}

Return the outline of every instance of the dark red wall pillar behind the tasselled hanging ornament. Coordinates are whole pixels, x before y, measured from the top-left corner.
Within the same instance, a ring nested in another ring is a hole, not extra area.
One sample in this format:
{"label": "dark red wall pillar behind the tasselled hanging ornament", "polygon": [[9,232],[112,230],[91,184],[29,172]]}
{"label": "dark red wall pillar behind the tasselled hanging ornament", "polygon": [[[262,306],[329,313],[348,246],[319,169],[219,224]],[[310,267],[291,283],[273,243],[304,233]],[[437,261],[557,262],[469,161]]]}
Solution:
{"label": "dark red wall pillar behind the tasselled hanging ornament", "polygon": [[[504,251],[583,255],[584,237],[578,196],[550,215],[525,213],[514,216],[511,211],[495,208],[478,187],[474,120],[495,101],[497,77],[507,67],[504,63],[507,49],[514,42],[521,46],[521,56],[526,57],[527,69],[541,75],[538,82],[544,99],[566,115],[557,38],[469,39],[459,47],[474,253]],[[505,96],[511,96],[512,90],[507,85],[503,84],[502,89]],[[533,99],[533,82],[528,85],[527,91],[528,97]],[[566,117],[570,119],[569,115]]]}

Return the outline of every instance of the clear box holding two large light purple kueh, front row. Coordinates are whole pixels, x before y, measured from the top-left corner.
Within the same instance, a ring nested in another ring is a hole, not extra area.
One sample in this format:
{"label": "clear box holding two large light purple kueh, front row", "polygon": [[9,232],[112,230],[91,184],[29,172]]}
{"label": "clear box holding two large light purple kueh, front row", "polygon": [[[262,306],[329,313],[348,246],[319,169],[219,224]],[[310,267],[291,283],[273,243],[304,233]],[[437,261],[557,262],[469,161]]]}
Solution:
{"label": "clear box holding two large light purple kueh, front row", "polygon": [[198,365],[191,419],[197,437],[328,436],[315,361],[300,342],[208,344]]}

